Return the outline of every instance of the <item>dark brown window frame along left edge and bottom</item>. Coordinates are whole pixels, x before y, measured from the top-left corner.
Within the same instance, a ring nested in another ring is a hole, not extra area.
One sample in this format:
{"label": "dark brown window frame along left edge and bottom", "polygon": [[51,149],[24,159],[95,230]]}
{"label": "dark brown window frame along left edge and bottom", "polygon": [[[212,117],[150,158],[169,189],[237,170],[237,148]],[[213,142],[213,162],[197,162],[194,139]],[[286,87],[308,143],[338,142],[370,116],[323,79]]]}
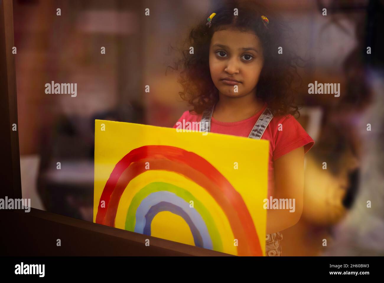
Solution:
{"label": "dark brown window frame along left edge and bottom", "polygon": [[[0,0],[0,198],[22,198],[12,0]],[[5,255],[217,256],[217,251],[167,241],[31,208],[1,210],[0,253]],[[56,246],[56,240],[61,246]],[[145,240],[150,240],[150,246]]]}

